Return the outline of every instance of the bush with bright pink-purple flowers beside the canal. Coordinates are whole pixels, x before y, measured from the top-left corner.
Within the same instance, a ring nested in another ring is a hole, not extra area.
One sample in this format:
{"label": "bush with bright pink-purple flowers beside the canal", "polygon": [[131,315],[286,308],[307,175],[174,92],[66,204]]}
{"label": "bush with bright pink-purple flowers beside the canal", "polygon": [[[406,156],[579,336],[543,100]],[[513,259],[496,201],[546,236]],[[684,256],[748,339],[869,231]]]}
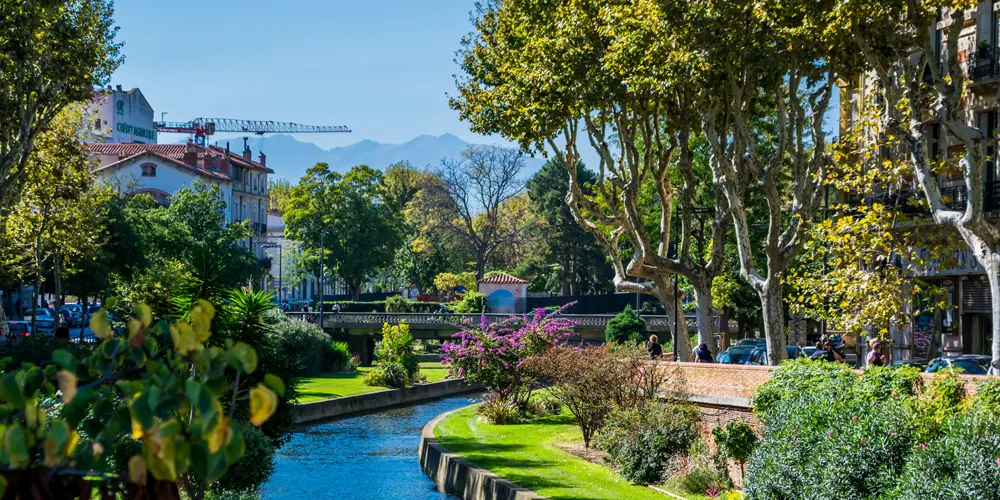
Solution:
{"label": "bush with bright pink-purple flowers beside the canal", "polygon": [[524,362],[573,336],[576,323],[559,317],[559,312],[538,309],[493,324],[483,316],[479,325],[464,325],[442,344],[441,360],[452,375],[481,384],[502,401],[523,405],[535,385]]}

